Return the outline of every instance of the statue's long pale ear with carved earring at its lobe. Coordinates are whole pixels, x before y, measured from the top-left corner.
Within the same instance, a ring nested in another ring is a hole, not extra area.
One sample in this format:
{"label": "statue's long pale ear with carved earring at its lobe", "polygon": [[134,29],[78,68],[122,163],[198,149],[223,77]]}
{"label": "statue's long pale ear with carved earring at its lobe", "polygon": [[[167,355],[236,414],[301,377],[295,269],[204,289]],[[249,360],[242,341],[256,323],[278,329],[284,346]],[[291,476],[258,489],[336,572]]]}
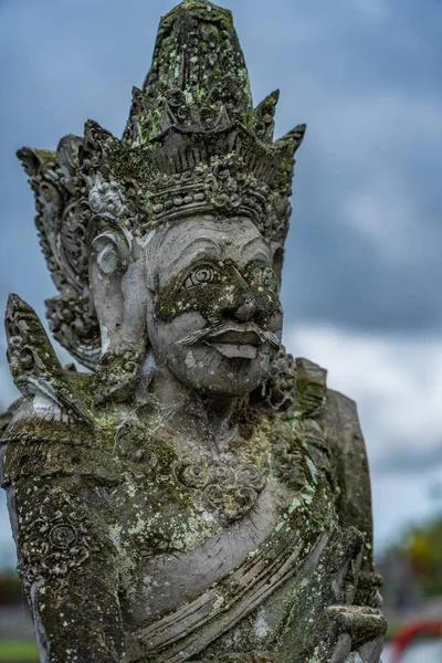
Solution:
{"label": "statue's long pale ear with carved earring at its lobe", "polygon": [[91,242],[90,284],[102,335],[97,400],[125,400],[135,389],[145,358],[146,288],[143,255],[120,230]]}

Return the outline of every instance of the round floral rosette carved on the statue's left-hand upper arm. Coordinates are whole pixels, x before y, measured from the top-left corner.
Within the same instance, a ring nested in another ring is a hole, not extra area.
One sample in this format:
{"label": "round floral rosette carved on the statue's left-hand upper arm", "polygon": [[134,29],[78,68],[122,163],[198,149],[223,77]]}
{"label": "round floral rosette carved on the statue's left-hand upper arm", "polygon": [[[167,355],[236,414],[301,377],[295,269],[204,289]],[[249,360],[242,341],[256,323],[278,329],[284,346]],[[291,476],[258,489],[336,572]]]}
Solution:
{"label": "round floral rosette carved on the statue's left-hand upper arm", "polygon": [[18,568],[27,585],[40,576],[64,578],[97,550],[88,534],[85,506],[62,492],[25,513],[20,536]]}

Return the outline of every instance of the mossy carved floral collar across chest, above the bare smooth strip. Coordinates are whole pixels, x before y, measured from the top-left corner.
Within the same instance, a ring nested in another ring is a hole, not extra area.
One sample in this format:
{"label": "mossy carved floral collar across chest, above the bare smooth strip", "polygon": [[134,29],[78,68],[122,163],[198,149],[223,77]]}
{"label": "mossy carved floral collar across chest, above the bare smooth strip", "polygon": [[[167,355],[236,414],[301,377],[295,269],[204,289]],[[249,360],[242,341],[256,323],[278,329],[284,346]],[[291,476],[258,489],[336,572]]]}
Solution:
{"label": "mossy carved floral collar across chest, above the bare smooth strip", "polygon": [[[259,497],[290,496],[316,481],[307,451],[292,431],[257,432],[223,453],[179,453],[149,440],[125,448],[123,481],[113,495],[110,534],[133,557],[190,551],[217,532],[260,511]],[[277,487],[277,490],[276,490]]]}

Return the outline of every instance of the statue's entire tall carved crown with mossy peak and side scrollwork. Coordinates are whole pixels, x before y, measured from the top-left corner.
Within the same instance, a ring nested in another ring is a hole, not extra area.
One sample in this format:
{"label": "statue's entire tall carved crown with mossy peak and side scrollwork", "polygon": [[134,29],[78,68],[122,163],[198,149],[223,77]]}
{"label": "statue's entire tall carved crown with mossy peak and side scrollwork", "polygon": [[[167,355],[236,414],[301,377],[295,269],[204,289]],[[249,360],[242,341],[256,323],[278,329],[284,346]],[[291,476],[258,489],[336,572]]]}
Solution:
{"label": "statue's entire tall carved crown with mossy peak and side scrollwork", "polygon": [[253,108],[231,12],[185,0],[160,21],[122,139],[88,120],[84,138],[65,136],[56,152],[19,150],[60,292],[46,301],[50,326],[82,364],[95,368],[101,356],[87,267],[98,231],[117,228],[129,238],[197,212],[245,215],[282,263],[305,125],[273,141],[277,96]]}

